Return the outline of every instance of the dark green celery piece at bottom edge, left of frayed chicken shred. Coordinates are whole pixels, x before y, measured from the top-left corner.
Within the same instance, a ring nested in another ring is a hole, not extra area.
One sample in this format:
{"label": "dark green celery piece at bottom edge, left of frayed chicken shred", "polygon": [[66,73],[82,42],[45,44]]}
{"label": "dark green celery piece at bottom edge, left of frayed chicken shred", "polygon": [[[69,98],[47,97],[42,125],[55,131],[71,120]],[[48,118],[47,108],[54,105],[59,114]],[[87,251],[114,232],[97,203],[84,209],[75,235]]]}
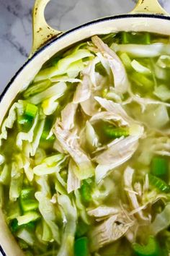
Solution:
{"label": "dark green celery piece at bottom edge, left of frayed chicken shred", "polygon": [[74,244],[74,255],[75,256],[89,256],[88,238],[86,236],[76,240]]}

